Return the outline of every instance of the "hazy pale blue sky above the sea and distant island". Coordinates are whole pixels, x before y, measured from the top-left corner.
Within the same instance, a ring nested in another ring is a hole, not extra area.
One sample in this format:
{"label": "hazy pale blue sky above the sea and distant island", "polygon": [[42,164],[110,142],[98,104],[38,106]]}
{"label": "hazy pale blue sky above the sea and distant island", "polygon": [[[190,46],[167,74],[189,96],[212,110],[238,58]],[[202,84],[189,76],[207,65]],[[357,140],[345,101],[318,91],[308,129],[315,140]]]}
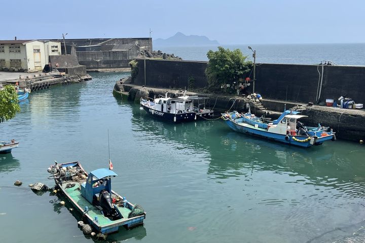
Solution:
{"label": "hazy pale blue sky above the sea and distant island", "polygon": [[[0,39],[168,38],[220,44],[365,43],[363,0],[155,0],[2,3]],[[5,10],[5,11],[4,11]]]}

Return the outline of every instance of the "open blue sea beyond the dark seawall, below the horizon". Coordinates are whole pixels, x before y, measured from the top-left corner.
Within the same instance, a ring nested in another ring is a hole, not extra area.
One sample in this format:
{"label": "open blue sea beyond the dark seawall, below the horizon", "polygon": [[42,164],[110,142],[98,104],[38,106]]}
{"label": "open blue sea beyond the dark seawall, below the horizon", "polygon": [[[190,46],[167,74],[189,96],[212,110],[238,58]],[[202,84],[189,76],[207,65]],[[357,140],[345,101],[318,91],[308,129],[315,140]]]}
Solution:
{"label": "open blue sea beyond the dark seawall, below the horizon", "polygon": [[[240,49],[243,55],[252,59],[252,51],[256,50],[258,63],[290,63],[318,64],[329,60],[339,65],[365,66],[365,43],[356,44],[261,44],[261,45],[221,45],[230,50]],[[174,53],[184,60],[208,61],[209,50],[216,51],[217,47],[158,47],[166,53]]]}

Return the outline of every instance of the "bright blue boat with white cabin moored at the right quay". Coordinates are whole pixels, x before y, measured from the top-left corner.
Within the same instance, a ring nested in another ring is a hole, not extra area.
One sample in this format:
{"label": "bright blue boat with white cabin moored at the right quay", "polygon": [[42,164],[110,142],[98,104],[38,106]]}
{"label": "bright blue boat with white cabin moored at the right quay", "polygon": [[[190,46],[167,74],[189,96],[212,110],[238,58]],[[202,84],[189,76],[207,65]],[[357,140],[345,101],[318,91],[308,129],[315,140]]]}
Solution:
{"label": "bright blue boat with white cabin moored at the right quay", "polygon": [[306,127],[298,119],[307,117],[298,111],[284,111],[276,120],[257,117],[250,112],[239,114],[237,111],[222,114],[222,118],[234,131],[259,136],[299,147],[320,145],[336,136],[328,127]]}

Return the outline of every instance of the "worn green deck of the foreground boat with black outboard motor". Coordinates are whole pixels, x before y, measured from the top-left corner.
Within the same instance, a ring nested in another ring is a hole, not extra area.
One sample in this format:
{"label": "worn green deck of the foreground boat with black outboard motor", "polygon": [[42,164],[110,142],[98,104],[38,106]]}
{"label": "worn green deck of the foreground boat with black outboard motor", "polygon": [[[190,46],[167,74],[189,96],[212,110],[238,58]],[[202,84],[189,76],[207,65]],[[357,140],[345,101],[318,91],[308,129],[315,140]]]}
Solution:
{"label": "worn green deck of the foreground boat with black outboard motor", "polygon": [[97,216],[98,218],[98,224],[102,227],[104,225],[108,225],[111,223],[118,223],[118,222],[122,222],[125,220],[128,220],[128,214],[131,212],[130,209],[127,209],[125,207],[118,207],[118,210],[121,212],[123,219],[119,219],[119,220],[110,220],[108,218],[106,218],[103,213],[96,208],[95,206],[91,205],[82,195],[81,195],[81,191],[79,190],[80,184],[76,183],[76,185],[74,187],[70,187],[70,188],[64,188],[64,190],[66,191],[66,193],[74,200],[76,201],[76,203],[82,208],[85,209],[85,207],[89,208],[88,211],[88,215],[90,217],[92,217],[93,219],[95,218],[95,216]]}

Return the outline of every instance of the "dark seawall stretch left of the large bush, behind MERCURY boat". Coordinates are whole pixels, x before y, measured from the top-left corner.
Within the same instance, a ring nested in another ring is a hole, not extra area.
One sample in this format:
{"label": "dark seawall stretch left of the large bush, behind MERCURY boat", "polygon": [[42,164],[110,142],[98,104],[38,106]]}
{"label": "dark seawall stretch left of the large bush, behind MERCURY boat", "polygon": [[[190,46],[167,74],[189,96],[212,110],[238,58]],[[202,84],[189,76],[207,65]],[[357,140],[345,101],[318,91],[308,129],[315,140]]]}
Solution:
{"label": "dark seawall stretch left of the large bush, behind MERCURY boat", "polygon": [[[134,80],[136,85],[146,85],[161,88],[182,88],[189,90],[189,78],[194,78],[195,88],[203,88],[207,85],[205,68],[207,62],[198,61],[169,61],[169,60],[144,60],[137,59],[138,75]],[[191,82],[192,84],[192,82]]]}

